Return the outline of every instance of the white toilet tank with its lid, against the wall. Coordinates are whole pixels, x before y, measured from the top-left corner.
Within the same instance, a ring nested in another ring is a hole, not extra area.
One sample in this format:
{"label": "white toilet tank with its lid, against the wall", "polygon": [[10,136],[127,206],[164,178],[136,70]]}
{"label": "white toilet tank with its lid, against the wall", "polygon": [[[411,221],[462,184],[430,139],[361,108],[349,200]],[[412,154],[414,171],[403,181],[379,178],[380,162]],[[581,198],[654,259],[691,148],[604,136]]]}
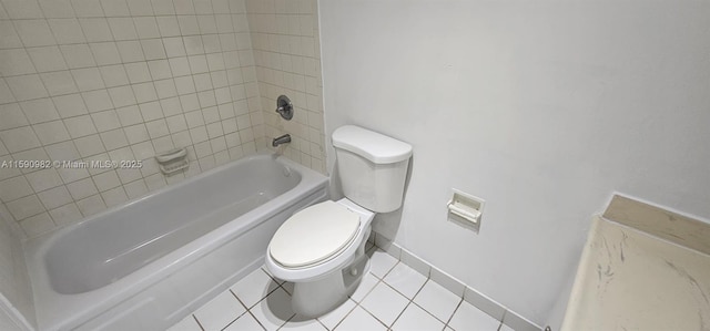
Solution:
{"label": "white toilet tank with its lid, against the wall", "polygon": [[402,206],[412,145],[345,125],[333,132],[333,146],[345,197],[376,213]]}

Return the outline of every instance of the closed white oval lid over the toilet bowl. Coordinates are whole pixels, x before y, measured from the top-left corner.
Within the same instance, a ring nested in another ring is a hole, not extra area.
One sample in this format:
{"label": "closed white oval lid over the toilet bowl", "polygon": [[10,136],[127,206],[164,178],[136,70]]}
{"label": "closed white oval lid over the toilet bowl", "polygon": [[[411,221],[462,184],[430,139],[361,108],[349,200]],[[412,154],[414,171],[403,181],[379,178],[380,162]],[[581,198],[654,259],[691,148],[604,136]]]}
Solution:
{"label": "closed white oval lid over the toilet bowl", "polygon": [[291,216],[268,244],[271,257],[285,267],[303,267],[327,259],[357,234],[359,216],[334,201],[307,207]]}

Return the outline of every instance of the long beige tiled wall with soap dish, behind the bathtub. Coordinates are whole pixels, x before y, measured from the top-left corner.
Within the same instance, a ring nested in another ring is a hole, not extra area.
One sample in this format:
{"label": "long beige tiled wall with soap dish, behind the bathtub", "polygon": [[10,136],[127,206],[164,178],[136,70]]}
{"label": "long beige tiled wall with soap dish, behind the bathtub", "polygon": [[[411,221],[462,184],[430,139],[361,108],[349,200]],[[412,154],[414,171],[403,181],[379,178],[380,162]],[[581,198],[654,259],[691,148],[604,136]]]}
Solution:
{"label": "long beige tiled wall with soap dish, behind the bathtub", "polygon": [[[30,237],[265,145],[244,0],[0,0],[0,163],[145,164],[6,164],[0,200]],[[191,169],[165,178],[153,155],[176,146]]]}

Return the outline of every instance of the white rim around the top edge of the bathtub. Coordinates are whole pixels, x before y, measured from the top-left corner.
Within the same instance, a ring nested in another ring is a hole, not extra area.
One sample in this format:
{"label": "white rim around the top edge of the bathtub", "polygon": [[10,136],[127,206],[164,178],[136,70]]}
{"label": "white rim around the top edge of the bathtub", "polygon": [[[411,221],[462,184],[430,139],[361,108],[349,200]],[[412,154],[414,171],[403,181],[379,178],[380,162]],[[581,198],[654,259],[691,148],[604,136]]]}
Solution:
{"label": "white rim around the top edge of the bathtub", "polygon": [[[212,174],[227,170],[255,158],[272,158],[281,163],[292,172],[301,175],[301,180],[295,187],[266,201],[265,204],[245,213],[237,218],[253,219],[253,221],[226,224],[210,230],[207,234],[195,238],[186,245],[160,257],[159,259],[141,267],[140,269],[120,278],[99,289],[75,294],[61,294],[52,288],[44,257],[57,240],[77,228],[95,221],[110,213],[120,211],[128,206],[148,199],[149,197],[164,194],[181,188],[190,183],[200,180]],[[189,266],[193,261],[210,254],[230,240],[237,238],[250,229],[268,220],[281,210],[298,201],[300,198],[310,197],[323,190],[327,194],[328,178],[303,165],[300,165],[283,155],[273,153],[257,153],[221,165],[181,183],[168,185],[155,192],[146,194],[126,204],[111,207],[106,210],[87,217],[85,219],[50,231],[42,236],[28,239],[23,242],[24,258],[28,265],[30,282],[32,285],[33,299],[37,310],[38,330],[57,330],[74,328],[92,319],[94,316],[119,304],[120,302],[138,294],[141,290],[170,277],[173,272]],[[92,304],[87,304],[91,302]],[[82,304],[83,303],[83,304]]]}

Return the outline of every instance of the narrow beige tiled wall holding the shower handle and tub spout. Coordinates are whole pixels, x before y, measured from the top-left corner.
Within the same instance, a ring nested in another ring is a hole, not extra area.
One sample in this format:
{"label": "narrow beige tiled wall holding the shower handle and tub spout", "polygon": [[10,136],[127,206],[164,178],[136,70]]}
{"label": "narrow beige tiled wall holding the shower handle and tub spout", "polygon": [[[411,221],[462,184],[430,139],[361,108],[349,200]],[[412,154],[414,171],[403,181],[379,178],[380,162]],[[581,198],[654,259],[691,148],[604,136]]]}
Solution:
{"label": "narrow beige tiled wall holding the shower handle and tub spout", "polygon": [[[248,43],[251,39],[254,48],[261,99],[248,101],[263,108],[267,145],[288,133],[292,143],[281,147],[284,154],[325,174],[317,1],[246,0],[246,12],[251,34],[237,35],[236,42]],[[237,24],[244,23],[240,20]],[[295,106],[292,121],[274,112],[281,94]]]}

